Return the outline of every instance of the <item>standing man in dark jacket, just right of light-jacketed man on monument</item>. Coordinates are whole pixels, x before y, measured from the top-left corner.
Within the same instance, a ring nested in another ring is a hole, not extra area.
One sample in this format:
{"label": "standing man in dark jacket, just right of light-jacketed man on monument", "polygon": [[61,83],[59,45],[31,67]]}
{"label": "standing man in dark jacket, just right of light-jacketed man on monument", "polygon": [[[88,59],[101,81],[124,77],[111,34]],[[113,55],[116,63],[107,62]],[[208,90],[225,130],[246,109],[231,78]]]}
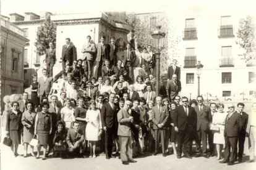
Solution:
{"label": "standing man in dark jacket, just right of light-jacketed man on monument", "polygon": [[96,68],[94,77],[97,79],[101,76],[101,67],[103,67],[105,60],[109,60],[109,44],[105,44],[105,36],[100,37],[100,43],[96,44]]}

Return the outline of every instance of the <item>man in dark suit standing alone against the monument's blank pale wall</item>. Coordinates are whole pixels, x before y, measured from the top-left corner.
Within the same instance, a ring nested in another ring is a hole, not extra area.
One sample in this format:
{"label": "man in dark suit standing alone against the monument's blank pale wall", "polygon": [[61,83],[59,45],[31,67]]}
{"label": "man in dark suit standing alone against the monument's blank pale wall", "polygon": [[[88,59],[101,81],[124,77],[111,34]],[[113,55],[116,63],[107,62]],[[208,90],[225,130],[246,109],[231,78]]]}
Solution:
{"label": "man in dark suit standing alone against the monument's blank pale wall", "polygon": [[73,60],[77,58],[74,44],[70,42],[70,38],[66,38],[66,45],[62,46],[62,70],[65,70],[66,62],[71,66]]}

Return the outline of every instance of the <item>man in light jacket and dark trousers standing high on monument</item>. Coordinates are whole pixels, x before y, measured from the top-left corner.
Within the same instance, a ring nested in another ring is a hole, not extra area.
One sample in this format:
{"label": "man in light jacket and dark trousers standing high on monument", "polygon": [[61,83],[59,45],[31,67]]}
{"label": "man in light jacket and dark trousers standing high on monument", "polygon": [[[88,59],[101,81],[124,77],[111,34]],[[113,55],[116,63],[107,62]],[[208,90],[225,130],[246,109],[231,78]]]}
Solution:
{"label": "man in light jacket and dark trousers standing high on monument", "polygon": [[83,53],[83,67],[86,72],[88,70],[88,79],[93,75],[93,56],[96,52],[95,44],[91,43],[91,36],[88,35],[87,42],[83,45],[82,53]]}

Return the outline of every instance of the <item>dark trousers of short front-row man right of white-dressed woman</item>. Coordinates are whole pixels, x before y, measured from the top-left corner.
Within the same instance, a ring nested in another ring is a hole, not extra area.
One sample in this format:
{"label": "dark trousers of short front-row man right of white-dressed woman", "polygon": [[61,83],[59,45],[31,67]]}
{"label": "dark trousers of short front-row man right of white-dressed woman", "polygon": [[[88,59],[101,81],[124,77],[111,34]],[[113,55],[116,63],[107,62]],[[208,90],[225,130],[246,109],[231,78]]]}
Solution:
{"label": "dark trousers of short front-row man right of white-dressed woman", "polygon": [[238,141],[238,137],[225,136],[224,160],[232,162],[232,163],[234,163],[236,161],[237,141]]}

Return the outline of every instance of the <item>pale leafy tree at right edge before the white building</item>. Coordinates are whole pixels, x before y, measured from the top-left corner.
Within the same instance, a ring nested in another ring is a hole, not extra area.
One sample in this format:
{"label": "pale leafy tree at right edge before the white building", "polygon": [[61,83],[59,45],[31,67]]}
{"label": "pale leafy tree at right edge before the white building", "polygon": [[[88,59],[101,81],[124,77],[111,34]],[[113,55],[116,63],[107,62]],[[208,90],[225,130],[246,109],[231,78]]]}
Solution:
{"label": "pale leafy tree at right edge before the white building", "polygon": [[252,17],[247,16],[239,21],[239,29],[237,30],[236,44],[239,44],[244,49],[242,59],[256,59],[256,39],[255,25]]}

